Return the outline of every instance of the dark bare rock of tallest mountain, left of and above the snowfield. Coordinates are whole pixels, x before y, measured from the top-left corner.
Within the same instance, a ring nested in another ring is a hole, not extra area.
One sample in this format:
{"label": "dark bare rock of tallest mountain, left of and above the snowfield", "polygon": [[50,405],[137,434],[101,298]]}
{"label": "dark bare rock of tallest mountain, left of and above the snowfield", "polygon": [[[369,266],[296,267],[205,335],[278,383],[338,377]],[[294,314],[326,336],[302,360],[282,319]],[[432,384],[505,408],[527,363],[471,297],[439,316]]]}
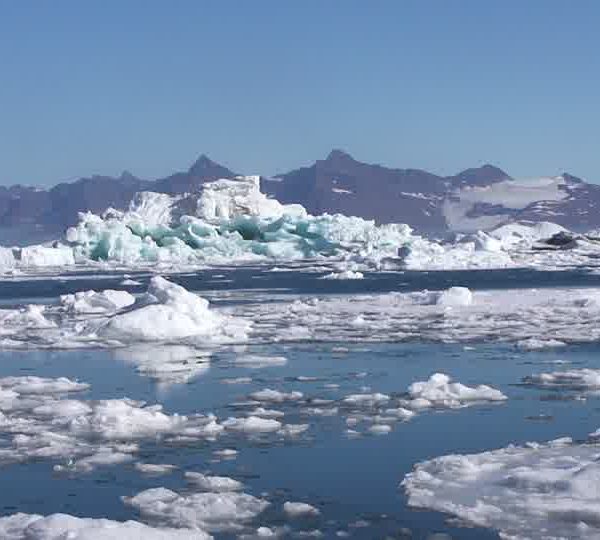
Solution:
{"label": "dark bare rock of tallest mountain, left of and above the snowfield", "polygon": [[489,186],[509,176],[492,165],[441,177],[420,169],[390,169],[334,150],[324,160],[264,182],[264,190],[309,212],[340,212],[421,231],[446,229],[443,202],[464,186]]}

